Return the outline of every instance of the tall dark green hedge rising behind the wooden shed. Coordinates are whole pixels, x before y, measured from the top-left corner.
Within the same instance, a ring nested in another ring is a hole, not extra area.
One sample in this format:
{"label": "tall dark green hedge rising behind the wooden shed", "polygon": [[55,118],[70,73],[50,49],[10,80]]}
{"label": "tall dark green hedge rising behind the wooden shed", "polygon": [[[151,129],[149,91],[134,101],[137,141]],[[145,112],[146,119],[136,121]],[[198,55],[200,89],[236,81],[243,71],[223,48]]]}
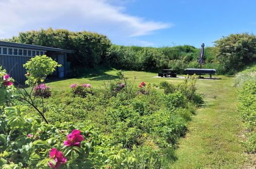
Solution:
{"label": "tall dark green hedge rising behind the wooden shed", "polygon": [[9,41],[22,44],[73,50],[68,56],[72,66],[94,67],[105,59],[110,40],[105,35],[92,32],[71,32],[65,29],[41,29],[21,32]]}

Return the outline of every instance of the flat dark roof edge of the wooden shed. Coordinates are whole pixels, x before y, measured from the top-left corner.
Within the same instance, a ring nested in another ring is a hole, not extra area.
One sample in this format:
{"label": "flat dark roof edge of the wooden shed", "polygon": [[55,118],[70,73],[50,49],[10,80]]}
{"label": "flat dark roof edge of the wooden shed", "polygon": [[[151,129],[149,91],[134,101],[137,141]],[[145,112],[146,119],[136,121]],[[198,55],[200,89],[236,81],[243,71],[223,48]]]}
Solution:
{"label": "flat dark roof edge of the wooden shed", "polygon": [[18,43],[12,43],[10,41],[1,41],[1,40],[0,40],[0,46],[26,48],[26,49],[34,49],[34,50],[45,50],[45,51],[54,51],[54,52],[73,53],[73,51],[66,50],[66,49],[50,48],[50,47],[27,45],[27,44],[18,44]]}

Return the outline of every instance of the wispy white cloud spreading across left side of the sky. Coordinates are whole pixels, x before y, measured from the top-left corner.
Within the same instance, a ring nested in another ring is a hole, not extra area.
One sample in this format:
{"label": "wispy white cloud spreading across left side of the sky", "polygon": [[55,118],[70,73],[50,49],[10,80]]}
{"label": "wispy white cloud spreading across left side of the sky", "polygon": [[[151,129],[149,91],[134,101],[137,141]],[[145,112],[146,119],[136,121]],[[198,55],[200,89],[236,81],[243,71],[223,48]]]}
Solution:
{"label": "wispy white cloud spreading across left side of the sky", "polygon": [[102,0],[0,0],[0,18],[0,38],[52,27],[92,31],[135,43],[122,45],[148,44],[134,37],[172,26],[125,14],[123,6]]}

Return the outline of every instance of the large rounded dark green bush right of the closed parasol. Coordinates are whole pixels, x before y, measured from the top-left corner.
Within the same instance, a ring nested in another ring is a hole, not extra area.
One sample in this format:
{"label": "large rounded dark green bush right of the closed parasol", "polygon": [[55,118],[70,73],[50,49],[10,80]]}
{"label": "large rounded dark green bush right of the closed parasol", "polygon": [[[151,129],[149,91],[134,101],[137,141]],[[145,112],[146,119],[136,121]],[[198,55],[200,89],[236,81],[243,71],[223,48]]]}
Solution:
{"label": "large rounded dark green bush right of the closed parasol", "polygon": [[256,60],[256,36],[254,34],[230,34],[215,42],[216,59],[222,66],[221,73],[234,74]]}

